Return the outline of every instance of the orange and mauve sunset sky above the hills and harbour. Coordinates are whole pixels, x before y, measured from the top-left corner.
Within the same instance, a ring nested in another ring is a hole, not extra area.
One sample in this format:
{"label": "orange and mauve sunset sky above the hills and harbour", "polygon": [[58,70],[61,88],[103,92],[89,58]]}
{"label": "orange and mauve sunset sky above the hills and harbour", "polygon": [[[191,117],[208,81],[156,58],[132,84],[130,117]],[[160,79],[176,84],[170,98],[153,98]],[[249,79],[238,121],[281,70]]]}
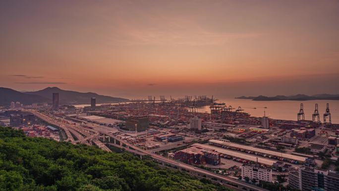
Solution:
{"label": "orange and mauve sunset sky above the hills and harbour", "polygon": [[339,94],[338,0],[0,0],[0,87]]}

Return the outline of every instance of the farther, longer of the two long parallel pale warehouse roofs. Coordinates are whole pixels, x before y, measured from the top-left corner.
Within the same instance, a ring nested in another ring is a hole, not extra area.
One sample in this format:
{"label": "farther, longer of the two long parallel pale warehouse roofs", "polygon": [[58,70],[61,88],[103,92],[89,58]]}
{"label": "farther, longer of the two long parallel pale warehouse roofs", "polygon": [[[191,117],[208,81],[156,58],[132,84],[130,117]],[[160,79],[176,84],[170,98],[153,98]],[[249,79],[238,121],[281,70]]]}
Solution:
{"label": "farther, longer of the two long parallel pale warehouse roofs", "polygon": [[215,140],[215,139],[211,139],[209,141],[213,142],[213,143],[217,143],[217,144],[230,146],[230,147],[241,148],[241,149],[245,149],[245,150],[251,150],[251,151],[255,151],[255,152],[265,153],[265,154],[268,154],[268,155],[274,155],[274,156],[283,157],[283,158],[292,159],[292,160],[297,160],[297,161],[302,161],[302,162],[304,162],[306,160],[306,157],[295,156],[295,155],[291,155],[291,154],[285,154],[285,153],[281,153],[281,152],[270,151],[270,150],[266,150],[266,149],[255,148],[255,147],[245,146],[245,145],[231,143],[231,142],[224,142],[224,141]]}

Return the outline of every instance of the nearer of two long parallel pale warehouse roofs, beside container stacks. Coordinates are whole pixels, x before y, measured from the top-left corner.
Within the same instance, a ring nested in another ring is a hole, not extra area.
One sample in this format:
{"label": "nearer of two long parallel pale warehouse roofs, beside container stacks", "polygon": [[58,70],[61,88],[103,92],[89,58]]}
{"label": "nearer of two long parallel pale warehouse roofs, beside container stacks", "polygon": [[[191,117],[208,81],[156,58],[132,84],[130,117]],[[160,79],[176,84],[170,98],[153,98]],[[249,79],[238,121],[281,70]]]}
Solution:
{"label": "nearer of two long parallel pale warehouse roofs, beside container stacks", "polygon": [[261,157],[257,157],[257,156],[252,156],[252,155],[244,154],[244,153],[241,153],[241,152],[226,150],[226,149],[223,149],[223,148],[214,147],[214,146],[205,145],[205,144],[195,143],[192,146],[198,147],[198,148],[214,149],[215,151],[220,152],[222,154],[226,154],[226,155],[230,155],[230,156],[233,156],[233,157],[237,157],[237,158],[241,158],[241,159],[245,159],[245,160],[249,160],[249,161],[254,161],[254,162],[257,162],[257,158],[258,158],[258,162],[260,164],[269,165],[269,166],[272,166],[273,163],[276,162],[274,160],[261,158]]}

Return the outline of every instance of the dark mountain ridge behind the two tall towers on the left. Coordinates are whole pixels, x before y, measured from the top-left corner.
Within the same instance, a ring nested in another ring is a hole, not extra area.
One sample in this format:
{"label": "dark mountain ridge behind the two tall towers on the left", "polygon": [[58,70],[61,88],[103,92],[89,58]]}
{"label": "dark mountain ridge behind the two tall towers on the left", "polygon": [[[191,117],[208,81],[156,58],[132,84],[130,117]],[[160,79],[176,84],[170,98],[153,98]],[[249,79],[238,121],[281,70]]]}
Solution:
{"label": "dark mountain ridge behind the two tall towers on the left", "polygon": [[62,90],[58,87],[48,87],[34,92],[19,92],[10,88],[0,87],[0,106],[7,106],[10,102],[20,102],[24,105],[32,103],[51,103],[52,94],[59,93],[60,104],[89,104],[92,97],[97,103],[127,102],[128,99],[99,95],[93,92],[76,92]]}

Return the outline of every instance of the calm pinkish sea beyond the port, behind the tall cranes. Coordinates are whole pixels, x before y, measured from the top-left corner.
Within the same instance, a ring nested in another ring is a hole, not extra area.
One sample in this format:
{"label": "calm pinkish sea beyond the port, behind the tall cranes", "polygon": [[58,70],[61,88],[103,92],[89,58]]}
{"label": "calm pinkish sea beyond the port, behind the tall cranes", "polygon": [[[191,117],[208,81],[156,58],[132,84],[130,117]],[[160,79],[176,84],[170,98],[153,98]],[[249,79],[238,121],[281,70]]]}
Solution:
{"label": "calm pinkish sea beyond the port, behind the tall cranes", "polygon": [[[300,110],[300,104],[304,106],[305,120],[312,120],[315,104],[318,104],[320,121],[323,122],[323,114],[326,110],[326,104],[330,105],[330,113],[333,124],[339,124],[339,100],[309,100],[309,101],[252,101],[246,99],[220,99],[217,103],[225,103],[226,106],[232,106],[237,109],[239,106],[243,112],[251,114],[251,116],[266,116],[271,119],[297,120],[297,113]],[[88,105],[75,105],[75,107],[85,107]],[[235,109],[233,111],[235,111]],[[205,106],[198,108],[198,112],[210,113],[210,107]]]}

